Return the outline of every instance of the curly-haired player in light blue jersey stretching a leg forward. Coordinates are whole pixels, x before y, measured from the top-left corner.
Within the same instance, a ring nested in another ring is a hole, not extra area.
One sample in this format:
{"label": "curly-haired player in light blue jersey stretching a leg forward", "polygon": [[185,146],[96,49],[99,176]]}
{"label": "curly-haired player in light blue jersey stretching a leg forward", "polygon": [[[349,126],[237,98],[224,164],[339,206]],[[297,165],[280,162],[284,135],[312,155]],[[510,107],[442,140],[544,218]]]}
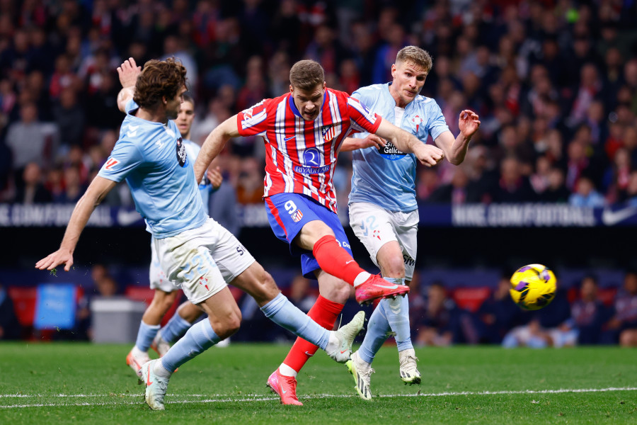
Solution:
{"label": "curly-haired player in light blue jersey stretching a leg forward", "polygon": [[120,139],[76,204],[59,249],[35,267],[52,270],[65,264],[69,271],[91,213],[117,182],[126,179],[166,277],[181,285],[188,300],[208,314],[165,356],[142,366],[151,409],[164,409],[168,380],[176,368],[239,329],[241,310],[227,283],[254,297],[273,322],[345,363],[365,314],[357,313],[338,331],[323,329],[282,295],[272,276],[236,237],[207,217],[190,165],[194,158],[188,157],[173,121],[186,91],[183,65],[173,59],[150,60],[142,71],[130,58],[117,72],[124,87],[117,106],[127,112]]}

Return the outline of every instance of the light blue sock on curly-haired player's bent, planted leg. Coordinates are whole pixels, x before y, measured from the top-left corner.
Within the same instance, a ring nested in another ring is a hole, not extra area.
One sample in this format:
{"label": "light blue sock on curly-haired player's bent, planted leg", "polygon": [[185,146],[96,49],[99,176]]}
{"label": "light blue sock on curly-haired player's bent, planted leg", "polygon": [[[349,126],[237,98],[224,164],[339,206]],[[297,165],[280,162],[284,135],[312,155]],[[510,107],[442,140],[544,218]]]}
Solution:
{"label": "light blue sock on curly-haired player's bent, planted leg", "polygon": [[193,327],[168,350],[166,356],[161,358],[161,365],[164,369],[173,372],[183,363],[198,356],[208,348],[221,341],[221,338],[214,333],[210,320],[205,319]]}

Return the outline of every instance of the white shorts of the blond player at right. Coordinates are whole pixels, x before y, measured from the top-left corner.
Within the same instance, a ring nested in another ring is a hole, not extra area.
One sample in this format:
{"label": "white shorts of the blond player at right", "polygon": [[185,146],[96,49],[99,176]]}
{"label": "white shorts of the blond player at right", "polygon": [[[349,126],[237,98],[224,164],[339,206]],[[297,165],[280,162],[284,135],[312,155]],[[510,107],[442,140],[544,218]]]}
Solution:
{"label": "white shorts of the blond player at right", "polygon": [[350,204],[350,226],[367,248],[369,258],[379,266],[376,257],[381,246],[391,241],[398,242],[403,251],[406,280],[413,278],[419,221],[418,210],[388,211],[372,203]]}

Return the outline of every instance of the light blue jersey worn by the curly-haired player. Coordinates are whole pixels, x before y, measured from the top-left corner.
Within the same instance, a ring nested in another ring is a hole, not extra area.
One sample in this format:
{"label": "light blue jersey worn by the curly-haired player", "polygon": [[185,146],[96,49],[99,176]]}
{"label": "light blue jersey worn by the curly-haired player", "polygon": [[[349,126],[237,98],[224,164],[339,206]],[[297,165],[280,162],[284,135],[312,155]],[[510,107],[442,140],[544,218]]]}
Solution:
{"label": "light blue jersey worn by the curly-haired player", "polygon": [[177,126],[131,115],[137,108],[134,101],[127,103],[120,139],[98,176],[126,179],[135,209],[157,239],[200,227],[207,214]]}

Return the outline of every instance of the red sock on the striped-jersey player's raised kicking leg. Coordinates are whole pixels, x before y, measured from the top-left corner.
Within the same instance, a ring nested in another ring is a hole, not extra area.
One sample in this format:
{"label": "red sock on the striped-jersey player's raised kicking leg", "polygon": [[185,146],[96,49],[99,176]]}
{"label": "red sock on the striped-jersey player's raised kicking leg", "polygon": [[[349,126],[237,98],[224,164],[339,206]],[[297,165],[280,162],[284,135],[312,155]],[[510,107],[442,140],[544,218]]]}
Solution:
{"label": "red sock on the striped-jersey player's raised kicking leg", "polygon": [[323,236],[316,241],[312,254],[314,254],[321,270],[345,280],[352,286],[356,276],[365,271],[331,235]]}

